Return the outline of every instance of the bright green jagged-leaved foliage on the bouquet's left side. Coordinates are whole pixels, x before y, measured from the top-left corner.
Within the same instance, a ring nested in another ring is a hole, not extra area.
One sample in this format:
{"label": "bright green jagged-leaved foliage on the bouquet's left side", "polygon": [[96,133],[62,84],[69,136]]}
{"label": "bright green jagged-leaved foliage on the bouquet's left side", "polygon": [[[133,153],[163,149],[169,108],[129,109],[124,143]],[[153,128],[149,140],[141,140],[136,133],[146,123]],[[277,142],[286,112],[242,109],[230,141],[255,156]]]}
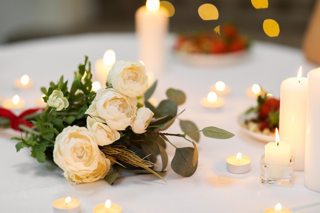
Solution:
{"label": "bright green jagged-leaved foliage on the bouquet's left side", "polygon": [[[85,78],[83,78],[83,76]],[[70,92],[68,91],[68,81],[64,81],[63,76],[57,83],[50,82],[50,87],[41,91],[45,94],[44,101],[47,102],[54,90],[63,92],[68,98],[70,106],[63,111],[56,111],[50,106],[46,110],[33,118],[33,128],[22,126],[26,132],[25,138],[13,138],[18,140],[16,150],[31,148],[31,156],[37,158],[39,162],[44,162],[45,158],[52,159],[52,150],[56,136],[67,126],[84,126],[86,117],[84,112],[94,99],[95,92],[92,89],[92,74],[88,57],[85,57],[84,64],[80,64],[78,71],[74,73],[74,81]]]}

